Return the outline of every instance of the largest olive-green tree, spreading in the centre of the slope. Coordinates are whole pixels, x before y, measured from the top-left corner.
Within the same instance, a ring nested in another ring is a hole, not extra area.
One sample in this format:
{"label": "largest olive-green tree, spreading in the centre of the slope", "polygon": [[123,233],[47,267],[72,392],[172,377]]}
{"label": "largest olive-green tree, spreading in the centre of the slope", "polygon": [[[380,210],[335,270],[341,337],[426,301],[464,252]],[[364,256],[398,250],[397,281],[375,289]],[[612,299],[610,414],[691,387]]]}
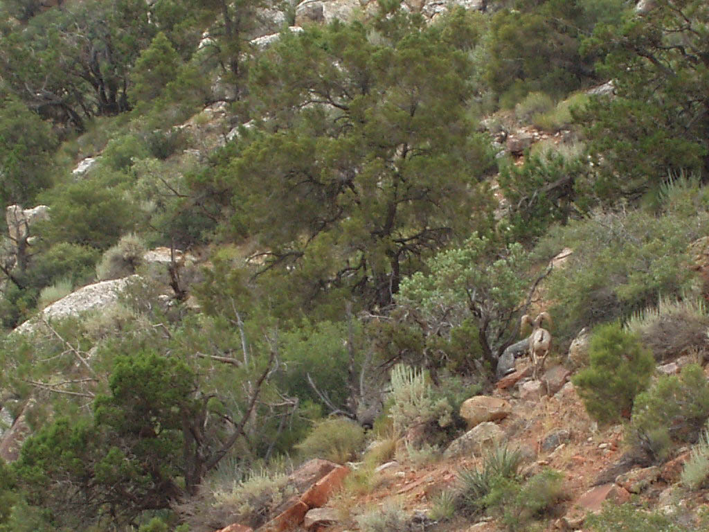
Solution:
{"label": "largest olive-green tree, spreading in the centre of the slope", "polygon": [[230,214],[225,237],[269,250],[259,282],[308,307],[352,292],[384,308],[423,257],[490,223],[468,55],[441,25],[391,25],[378,40],[359,23],[282,35],[250,72],[272,118],[192,182]]}

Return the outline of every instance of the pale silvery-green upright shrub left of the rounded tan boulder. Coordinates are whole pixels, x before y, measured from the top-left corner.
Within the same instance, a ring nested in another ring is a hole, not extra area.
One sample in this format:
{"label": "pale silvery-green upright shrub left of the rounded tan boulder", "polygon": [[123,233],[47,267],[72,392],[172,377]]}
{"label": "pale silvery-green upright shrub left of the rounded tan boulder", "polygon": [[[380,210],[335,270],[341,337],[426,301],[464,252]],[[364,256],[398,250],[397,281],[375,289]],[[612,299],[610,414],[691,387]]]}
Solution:
{"label": "pale silvery-green upright shrub left of the rounded tan boulder", "polygon": [[423,371],[399,364],[391,370],[391,419],[398,433],[423,425],[436,431],[452,423],[452,409],[444,398],[435,399]]}

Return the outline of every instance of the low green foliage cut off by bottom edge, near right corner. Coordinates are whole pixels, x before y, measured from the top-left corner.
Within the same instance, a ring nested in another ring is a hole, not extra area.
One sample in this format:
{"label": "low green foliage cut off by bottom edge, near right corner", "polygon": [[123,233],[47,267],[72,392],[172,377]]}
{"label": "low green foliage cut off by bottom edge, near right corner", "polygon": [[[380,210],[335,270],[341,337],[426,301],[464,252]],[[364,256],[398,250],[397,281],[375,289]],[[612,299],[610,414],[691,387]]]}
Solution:
{"label": "low green foliage cut off by bottom edge, near right corner", "polygon": [[588,516],[588,526],[594,532],[691,532],[696,528],[683,526],[674,516],[636,508],[632,504],[608,504],[599,514]]}

